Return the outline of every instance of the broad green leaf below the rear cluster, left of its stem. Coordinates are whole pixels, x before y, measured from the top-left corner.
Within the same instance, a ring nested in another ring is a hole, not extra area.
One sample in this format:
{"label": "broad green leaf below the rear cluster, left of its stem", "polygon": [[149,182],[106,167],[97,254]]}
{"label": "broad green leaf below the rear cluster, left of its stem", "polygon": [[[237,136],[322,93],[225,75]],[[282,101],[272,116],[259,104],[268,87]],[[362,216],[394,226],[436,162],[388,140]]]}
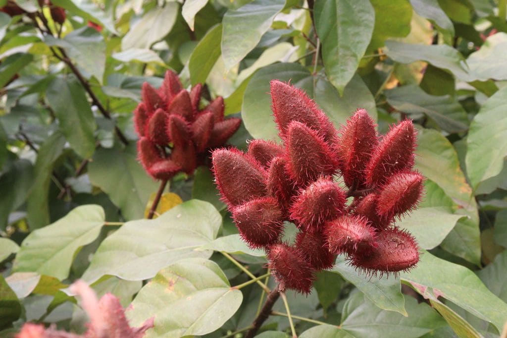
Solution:
{"label": "broad green leaf below the rear cluster, left of its stem", "polygon": [[159,186],[144,172],[136,156],[135,144],[124,150],[99,148],[88,164],[90,182],[107,193],[127,220],[142,218],[144,206]]}

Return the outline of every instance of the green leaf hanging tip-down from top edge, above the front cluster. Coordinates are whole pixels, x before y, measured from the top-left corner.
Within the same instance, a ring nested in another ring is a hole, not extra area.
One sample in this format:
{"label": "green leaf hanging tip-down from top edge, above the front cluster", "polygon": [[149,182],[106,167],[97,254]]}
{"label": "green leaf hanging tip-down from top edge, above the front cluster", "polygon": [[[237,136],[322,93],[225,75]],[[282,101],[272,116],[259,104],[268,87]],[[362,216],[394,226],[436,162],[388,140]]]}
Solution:
{"label": "green leaf hanging tip-down from top edge, above the front cluster", "polygon": [[369,0],[318,1],[315,28],[329,81],[343,95],[372,38],[375,11]]}

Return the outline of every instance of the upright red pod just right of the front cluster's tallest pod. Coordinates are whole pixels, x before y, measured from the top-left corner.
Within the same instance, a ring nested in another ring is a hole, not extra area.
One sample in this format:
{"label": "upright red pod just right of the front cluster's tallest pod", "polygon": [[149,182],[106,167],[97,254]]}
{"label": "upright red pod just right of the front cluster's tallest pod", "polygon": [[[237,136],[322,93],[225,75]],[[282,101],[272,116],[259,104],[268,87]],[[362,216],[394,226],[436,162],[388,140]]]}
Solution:
{"label": "upright red pod just right of the front cluster's tallest pod", "polygon": [[341,128],[341,138],[337,144],[340,168],[345,184],[361,188],[364,183],[364,170],[378,145],[375,122],[365,109],[358,109]]}

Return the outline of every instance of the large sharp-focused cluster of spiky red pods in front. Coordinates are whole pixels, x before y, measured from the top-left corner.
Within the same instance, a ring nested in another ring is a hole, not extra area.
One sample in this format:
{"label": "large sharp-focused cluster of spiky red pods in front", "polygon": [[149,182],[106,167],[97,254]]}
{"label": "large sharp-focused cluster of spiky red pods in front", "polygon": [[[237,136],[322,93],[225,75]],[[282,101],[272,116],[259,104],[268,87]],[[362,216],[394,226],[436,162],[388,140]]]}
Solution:
{"label": "large sharp-focused cluster of spiky red pods in front", "polygon": [[[212,162],[242,239],[266,250],[280,290],[310,292],[315,272],[341,253],[369,274],[414,266],[417,243],[394,225],[423,190],[423,177],[412,171],[412,121],[381,138],[359,109],[338,131],[300,89],[273,80],[271,98],[283,143],[254,140],[247,153],[218,149]],[[340,174],[346,188],[334,180]],[[293,245],[281,241],[285,221],[300,230]]]}

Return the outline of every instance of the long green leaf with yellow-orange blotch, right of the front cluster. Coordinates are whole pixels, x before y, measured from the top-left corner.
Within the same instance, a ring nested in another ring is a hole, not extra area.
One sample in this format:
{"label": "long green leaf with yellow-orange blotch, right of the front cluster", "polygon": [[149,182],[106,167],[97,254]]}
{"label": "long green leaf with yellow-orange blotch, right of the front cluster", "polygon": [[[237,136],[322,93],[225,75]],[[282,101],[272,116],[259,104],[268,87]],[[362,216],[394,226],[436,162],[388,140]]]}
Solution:
{"label": "long green leaf with yellow-orange blotch, right of the front cluster", "polygon": [[437,130],[420,129],[417,138],[417,170],[454,200],[459,206],[456,214],[467,216],[457,222],[442,247],[479,265],[481,247],[477,203],[459,166],[456,150]]}

